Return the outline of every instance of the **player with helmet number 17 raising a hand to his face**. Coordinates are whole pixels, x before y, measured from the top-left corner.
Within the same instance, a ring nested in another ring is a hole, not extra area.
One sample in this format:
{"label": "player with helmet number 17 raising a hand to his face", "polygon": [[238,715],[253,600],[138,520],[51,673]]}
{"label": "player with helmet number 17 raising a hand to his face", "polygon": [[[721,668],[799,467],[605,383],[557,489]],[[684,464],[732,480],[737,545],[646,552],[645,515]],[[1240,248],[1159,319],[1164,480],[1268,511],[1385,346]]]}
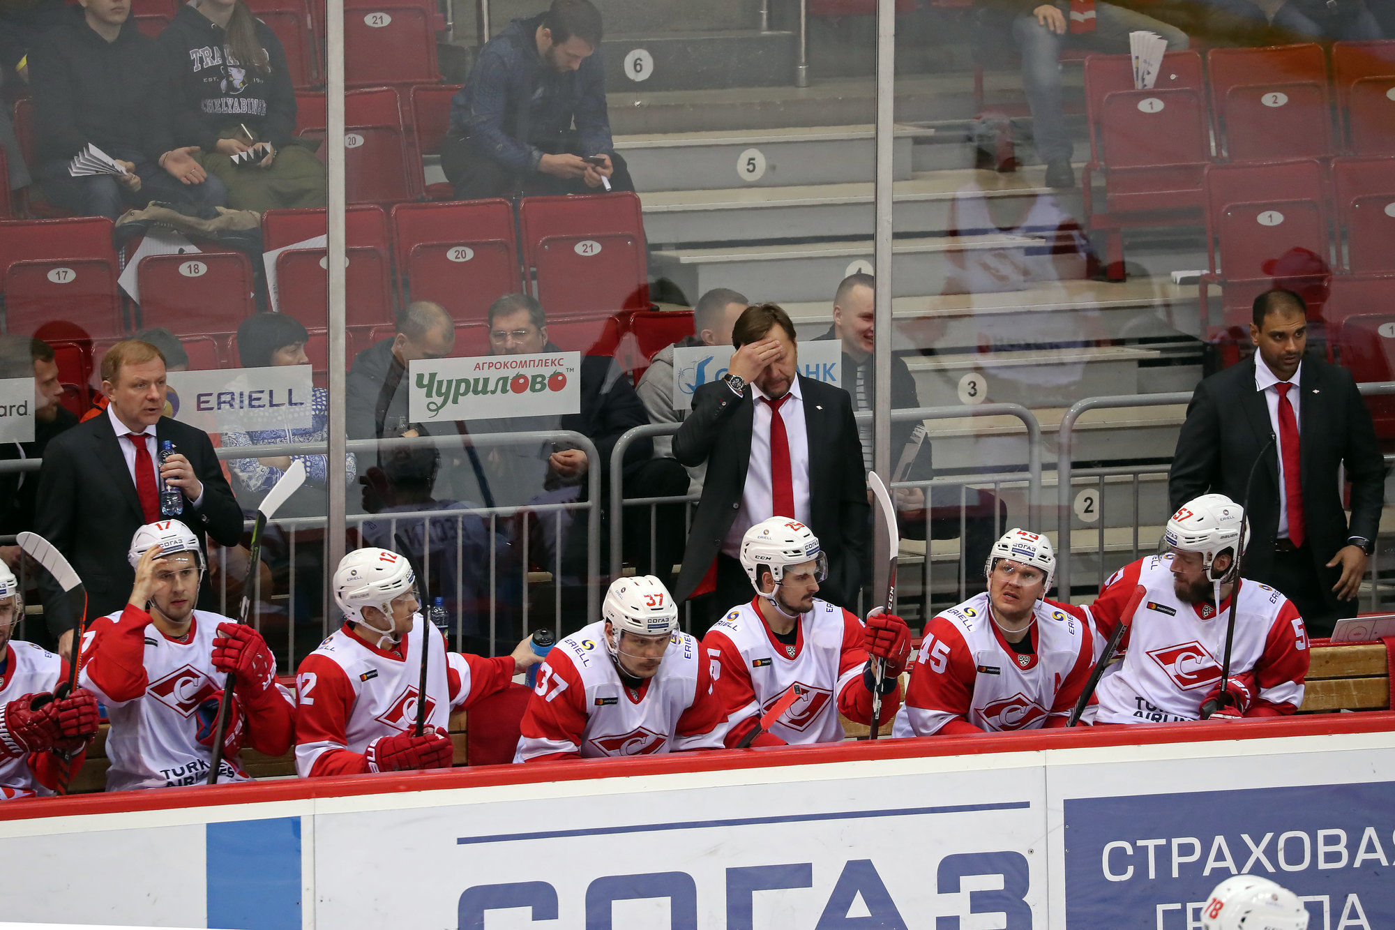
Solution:
{"label": "player with helmet number 17 raising a hand to his face", "polygon": [[229,672],[237,683],[218,781],[250,781],[241,747],[282,755],[294,732],[276,659],[251,627],[194,609],[205,566],[188,526],[177,519],[141,526],[127,559],[135,568],[131,599],[121,613],[95,620],[82,644],[81,681],[112,721],[106,790],[205,783]]}

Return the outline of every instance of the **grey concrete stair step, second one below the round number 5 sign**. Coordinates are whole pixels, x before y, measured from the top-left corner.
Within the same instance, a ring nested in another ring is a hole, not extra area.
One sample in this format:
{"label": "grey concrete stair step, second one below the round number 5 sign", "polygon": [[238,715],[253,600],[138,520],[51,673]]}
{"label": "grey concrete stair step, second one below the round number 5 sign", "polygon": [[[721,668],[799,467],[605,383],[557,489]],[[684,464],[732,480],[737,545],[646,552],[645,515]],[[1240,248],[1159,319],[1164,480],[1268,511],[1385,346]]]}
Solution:
{"label": "grey concrete stair step, second one below the round number 5 sign", "polygon": [[[1048,254],[1046,240],[1038,236],[898,239],[891,251],[894,296],[1017,286],[1020,278],[993,274],[999,265],[1046,279],[1085,274],[1083,257]],[[651,253],[650,270],[692,300],[718,286],[752,300],[819,300],[854,271],[872,271],[872,240],[675,249]]]}

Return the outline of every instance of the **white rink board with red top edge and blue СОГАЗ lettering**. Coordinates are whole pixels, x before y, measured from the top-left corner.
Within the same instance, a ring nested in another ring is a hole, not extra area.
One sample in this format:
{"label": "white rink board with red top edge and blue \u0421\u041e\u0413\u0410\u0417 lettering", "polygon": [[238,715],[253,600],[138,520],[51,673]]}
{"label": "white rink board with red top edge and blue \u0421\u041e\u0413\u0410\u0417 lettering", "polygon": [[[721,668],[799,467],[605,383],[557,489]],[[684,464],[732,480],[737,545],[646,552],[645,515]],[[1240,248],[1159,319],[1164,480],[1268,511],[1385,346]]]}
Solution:
{"label": "white rink board with red top edge and blue \u0421\u041e\u0413\u0410\u0417 lettering", "polygon": [[1216,883],[1250,871],[1304,896],[1311,930],[1395,927],[1389,714],[287,781],[213,796],[6,804],[6,920],[1187,930]]}

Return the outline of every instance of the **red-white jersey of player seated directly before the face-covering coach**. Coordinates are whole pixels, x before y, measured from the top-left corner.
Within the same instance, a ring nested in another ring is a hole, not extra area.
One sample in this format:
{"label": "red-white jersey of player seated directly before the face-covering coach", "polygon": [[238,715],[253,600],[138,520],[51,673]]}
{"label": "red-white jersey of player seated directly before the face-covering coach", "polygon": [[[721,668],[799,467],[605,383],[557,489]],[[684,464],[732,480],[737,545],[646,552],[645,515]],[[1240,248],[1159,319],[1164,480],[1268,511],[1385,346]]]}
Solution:
{"label": "red-white jersey of player seated directly before the face-covering coach", "polygon": [[[843,740],[840,711],[859,723],[872,719],[872,694],[862,683],[868,662],[862,621],[843,607],[815,598],[813,609],[795,624],[794,645],[785,645],[752,598],[714,623],[702,644],[732,728],[764,714],[794,684],[806,693],[769,730],[785,743]],[[898,702],[897,693],[883,697],[883,721]]]}

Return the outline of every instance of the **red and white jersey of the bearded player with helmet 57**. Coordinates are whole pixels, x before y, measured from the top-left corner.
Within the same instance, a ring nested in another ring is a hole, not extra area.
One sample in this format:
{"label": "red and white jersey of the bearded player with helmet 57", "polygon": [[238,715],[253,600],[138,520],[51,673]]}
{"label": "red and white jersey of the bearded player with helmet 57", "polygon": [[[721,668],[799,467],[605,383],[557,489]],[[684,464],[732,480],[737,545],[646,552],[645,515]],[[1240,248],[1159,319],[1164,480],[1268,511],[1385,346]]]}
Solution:
{"label": "red and white jersey of the bearded player with helmet 57", "polygon": [[[1101,642],[1113,633],[1137,585],[1148,593],[1119,644],[1123,660],[1099,680],[1099,723],[1170,723],[1200,719],[1201,702],[1221,681],[1230,600],[1219,612],[1208,602],[1177,598],[1172,554],[1124,566],[1089,606]],[[1257,697],[1246,716],[1293,714],[1303,704],[1309,669],[1303,619],[1288,598],[1257,581],[1240,582],[1230,674],[1256,679]]]}

